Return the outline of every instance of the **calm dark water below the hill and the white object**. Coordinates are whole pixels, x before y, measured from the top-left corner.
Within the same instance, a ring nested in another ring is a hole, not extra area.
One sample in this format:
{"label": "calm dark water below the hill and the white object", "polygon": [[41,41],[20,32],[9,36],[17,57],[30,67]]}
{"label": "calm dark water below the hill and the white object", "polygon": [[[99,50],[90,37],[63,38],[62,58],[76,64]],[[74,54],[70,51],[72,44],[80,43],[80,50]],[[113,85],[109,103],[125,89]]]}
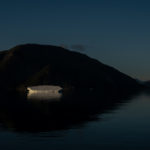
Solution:
{"label": "calm dark water below the hill and the white object", "polygon": [[150,95],[1,96],[0,149],[149,150]]}

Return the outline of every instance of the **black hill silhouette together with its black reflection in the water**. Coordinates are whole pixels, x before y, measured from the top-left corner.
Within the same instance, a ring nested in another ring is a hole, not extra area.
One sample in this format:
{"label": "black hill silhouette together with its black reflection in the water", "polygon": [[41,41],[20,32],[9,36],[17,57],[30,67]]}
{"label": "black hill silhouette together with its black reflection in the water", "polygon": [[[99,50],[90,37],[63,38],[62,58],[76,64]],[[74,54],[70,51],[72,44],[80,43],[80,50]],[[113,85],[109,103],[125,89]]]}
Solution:
{"label": "black hill silhouette together with its black reflection in the water", "polygon": [[[19,132],[81,127],[127,102],[143,86],[84,54],[36,44],[0,52],[0,84],[1,127]],[[32,101],[14,92],[24,91],[27,86],[51,84],[75,92],[59,102]]]}

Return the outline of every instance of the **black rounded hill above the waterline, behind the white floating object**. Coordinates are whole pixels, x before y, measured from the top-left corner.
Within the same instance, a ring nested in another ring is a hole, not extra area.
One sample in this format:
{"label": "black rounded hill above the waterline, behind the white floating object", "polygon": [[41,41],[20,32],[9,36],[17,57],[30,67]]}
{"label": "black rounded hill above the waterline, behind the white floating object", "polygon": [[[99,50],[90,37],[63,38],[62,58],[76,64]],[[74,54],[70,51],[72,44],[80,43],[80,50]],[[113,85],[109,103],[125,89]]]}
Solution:
{"label": "black rounded hill above the waterline, behind the white floating object", "polygon": [[4,89],[60,85],[113,92],[140,86],[135,79],[84,54],[37,44],[0,52],[0,84]]}

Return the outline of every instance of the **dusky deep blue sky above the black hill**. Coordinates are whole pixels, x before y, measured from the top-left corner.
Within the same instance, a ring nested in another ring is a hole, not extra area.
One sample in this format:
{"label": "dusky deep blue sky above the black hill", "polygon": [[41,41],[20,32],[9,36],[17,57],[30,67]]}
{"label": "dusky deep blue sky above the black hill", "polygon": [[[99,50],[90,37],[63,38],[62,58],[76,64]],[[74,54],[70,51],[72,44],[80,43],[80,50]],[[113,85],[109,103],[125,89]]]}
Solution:
{"label": "dusky deep blue sky above the black hill", "polygon": [[82,45],[84,53],[150,79],[150,1],[1,0],[0,49]]}

